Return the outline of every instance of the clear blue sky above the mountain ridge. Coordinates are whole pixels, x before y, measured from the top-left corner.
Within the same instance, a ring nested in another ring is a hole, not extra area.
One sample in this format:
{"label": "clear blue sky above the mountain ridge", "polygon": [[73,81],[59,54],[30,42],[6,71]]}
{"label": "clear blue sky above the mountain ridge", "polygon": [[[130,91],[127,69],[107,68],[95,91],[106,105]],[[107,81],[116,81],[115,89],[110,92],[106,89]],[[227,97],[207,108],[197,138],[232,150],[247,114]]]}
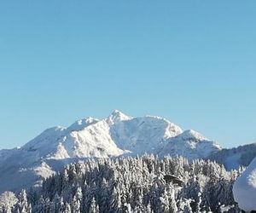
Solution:
{"label": "clear blue sky above the mountain ridge", "polygon": [[255,1],[0,3],[0,148],[113,109],[256,142]]}

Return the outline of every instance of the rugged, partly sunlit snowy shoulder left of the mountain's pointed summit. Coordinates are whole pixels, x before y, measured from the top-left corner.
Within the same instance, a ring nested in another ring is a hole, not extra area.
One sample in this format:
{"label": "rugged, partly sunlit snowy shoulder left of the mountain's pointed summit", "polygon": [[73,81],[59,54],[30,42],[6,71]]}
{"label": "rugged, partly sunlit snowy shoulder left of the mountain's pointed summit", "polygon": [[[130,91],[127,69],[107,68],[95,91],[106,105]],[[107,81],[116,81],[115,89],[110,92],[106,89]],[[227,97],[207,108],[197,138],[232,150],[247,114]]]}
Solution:
{"label": "rugged, partly sunlit snowy shoulder left of the mountain's pointed summit", "polygon": [[107,158],[124,152],[110,137],[107,120],[85,118],[68,128],[55,127],[45,130],[28,142],[22,150],[38,153],[39,158]]}

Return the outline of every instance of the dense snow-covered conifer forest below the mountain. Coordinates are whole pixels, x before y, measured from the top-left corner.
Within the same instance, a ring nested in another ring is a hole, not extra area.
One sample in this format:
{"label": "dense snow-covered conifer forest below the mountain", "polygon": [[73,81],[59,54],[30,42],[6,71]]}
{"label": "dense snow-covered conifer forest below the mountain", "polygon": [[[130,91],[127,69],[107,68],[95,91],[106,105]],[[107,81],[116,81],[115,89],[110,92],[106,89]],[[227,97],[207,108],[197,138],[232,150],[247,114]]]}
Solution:
{"label": "dense snow-covered conifer forest below the mountain", "polygon": [[242,171],[154,155],[89,159],[67,165],[40,189],[3,193],[0,206],[15,213],[241,212],[232,186]]}

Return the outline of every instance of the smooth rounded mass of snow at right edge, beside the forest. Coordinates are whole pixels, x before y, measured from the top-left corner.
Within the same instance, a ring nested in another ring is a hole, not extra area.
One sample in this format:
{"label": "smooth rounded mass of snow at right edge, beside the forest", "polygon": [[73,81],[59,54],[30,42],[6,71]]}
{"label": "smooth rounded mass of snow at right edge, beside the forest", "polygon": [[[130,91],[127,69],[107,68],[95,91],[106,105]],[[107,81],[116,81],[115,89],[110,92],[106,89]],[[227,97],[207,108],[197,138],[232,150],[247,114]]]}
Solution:
{"label": "smooth rounded mass of snow at right edge, beside the forest", "polygon": [[237,178],[233,187],[234,199],[239,207],[245,211],[256,210],[256,158],[247,170]]}

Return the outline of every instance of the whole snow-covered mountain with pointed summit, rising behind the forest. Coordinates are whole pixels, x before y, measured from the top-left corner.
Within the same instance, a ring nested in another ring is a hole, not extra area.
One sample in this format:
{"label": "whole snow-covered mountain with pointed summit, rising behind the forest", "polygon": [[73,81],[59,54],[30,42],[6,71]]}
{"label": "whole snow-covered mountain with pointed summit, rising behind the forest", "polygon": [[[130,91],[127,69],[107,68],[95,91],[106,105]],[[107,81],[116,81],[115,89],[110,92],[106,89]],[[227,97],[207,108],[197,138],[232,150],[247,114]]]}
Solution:
{"label": "whole snow-covered mountain with pointed summit, rising behind the forest", "polygon": [[40,185],[80,158],[154,153],[207,158],[221,150],[194,130],[183,131],[165,118],[132,118],[115,110],[108,118],[84,118],[68,128],[45,130],[20,148],[0,151],[0,192]]}

